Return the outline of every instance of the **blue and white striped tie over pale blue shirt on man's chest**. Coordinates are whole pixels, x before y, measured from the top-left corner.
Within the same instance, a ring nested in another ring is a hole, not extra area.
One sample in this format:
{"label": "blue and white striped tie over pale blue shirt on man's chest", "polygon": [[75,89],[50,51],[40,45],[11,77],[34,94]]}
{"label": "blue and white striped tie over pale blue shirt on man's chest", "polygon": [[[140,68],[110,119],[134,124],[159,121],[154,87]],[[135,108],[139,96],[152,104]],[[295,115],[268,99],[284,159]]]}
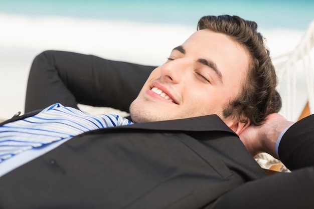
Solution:
{"label": "blue and white striped tie over pale blue shirt on man's chest", "polygon": [[130,124],[118,115],[90,115],[56,103],[34,116],[0,126],[0,164],[26,150],[69,140],[87,131]]}

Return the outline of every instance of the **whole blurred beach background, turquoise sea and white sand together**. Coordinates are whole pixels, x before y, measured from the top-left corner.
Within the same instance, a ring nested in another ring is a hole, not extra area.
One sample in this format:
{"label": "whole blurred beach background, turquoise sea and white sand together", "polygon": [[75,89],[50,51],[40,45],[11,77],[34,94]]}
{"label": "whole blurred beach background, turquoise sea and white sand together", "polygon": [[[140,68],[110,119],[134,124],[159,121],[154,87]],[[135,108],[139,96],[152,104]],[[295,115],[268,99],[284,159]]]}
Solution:
{"label": "whole blurred beach background, turquoise sea and white sand together", "polygon": [[29,69],[44,50],[160,65],[202,16],[224,14],[257,22],[276,58],[296,48],[314,1],[0,0],[0,119],[24,113]]}

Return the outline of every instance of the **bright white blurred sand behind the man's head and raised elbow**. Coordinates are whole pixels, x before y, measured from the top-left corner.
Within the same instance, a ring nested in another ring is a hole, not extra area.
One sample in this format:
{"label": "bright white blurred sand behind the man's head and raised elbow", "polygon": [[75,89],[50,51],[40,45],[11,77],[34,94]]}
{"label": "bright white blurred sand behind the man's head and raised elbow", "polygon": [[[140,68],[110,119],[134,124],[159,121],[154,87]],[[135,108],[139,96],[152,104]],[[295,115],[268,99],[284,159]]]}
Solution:
{"label": "bright white blurred sand behind the man's head and raised elbow", "polygon": [[[66,50],[107,59],[160,65],[196,27],[105,22],[70,18],[35,19],[0,14],[0,119],[24,113],[28,72],[44,50]],[[292,51],[304,31],[261,31],[273,57]],[[40,98],[38,98],[40,99]]]}

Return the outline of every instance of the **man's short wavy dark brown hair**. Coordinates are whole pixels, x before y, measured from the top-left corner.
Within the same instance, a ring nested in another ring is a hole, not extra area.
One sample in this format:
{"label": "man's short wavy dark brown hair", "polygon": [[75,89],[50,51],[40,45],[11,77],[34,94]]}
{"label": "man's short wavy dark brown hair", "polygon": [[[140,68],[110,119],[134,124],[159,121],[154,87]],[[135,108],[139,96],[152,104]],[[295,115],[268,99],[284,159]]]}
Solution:
{"label": "man's short wavy dark brown hair", "polygon": [[278,112],[281,98],[275,90],[277,76],[264,38],[257,32],[257,24],[237,16],[205,16],[200,19],[197,29],[229,36],[251,57],[242,91],[224,108],[224,117],[237,117],[242,122],[248,118],[251,124],[260,125],[268,114]]}

